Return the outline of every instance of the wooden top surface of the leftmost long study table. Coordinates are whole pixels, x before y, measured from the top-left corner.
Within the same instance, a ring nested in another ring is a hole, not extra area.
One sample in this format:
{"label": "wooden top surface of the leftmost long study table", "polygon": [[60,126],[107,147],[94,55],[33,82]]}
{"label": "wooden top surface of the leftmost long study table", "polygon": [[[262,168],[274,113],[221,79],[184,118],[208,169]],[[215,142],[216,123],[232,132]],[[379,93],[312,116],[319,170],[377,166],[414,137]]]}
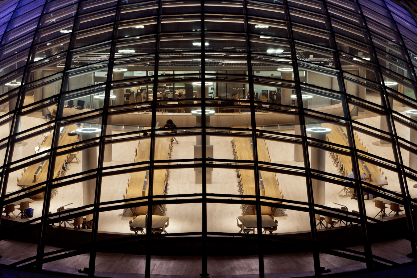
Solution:
{"label": "wooden top surface of the leftmost long study table", "polygon": [[[75,124],[70,125],[70,126],[66,126],[66,129],[64,129],[64,131],[63,131],[63,136],[58,141],[58,146],[65,146],[65,145],[68,145],[68,144],[71,144],[71,143],[75,143],[77,141],[78,136],[69,136],[67,134],[67,132],[69,132],[73,129],[75,129]],[[49,136],[47,137],[47,139],[45,139],[45,142],[41,146],[41,148],[39,150],[40,152],[50,149],[51,143],[52,143],[52,137],[53,137],[53,133],[49,134]],[[71,147],[60,149],[60,151],[66,150],[66,149],[69,149],[69,148],[71,148]],[[59,170],[62,167],[62,164],[65,162],[66,156],[67,155],[64,154],[64,155],[60,155],[60,156],[56,157],[55,168],[54,168],[54,177],[58,174]],[[44,163],[43,169],[38,174],[38,179],[37,179],[36,182],[35,182],[35,179],[34,179],[34,174],[35,174],[36,170],[38,169],[38,167],[40,166],[40,163],[30,165],[28,167],[28,169],[26,170],[26,172],[23,174],[22,178],[19,179],[18,186],[27,187],[27,186],[32,186],[32,185],[38,184],[40,182],[45,182],[46,179],[47,179],[47,175],[48,175],[48,165],[49,165],[49,159],[46,160],[46,162]],[[43,185],[43,186],[45,186],[45,185]]]}

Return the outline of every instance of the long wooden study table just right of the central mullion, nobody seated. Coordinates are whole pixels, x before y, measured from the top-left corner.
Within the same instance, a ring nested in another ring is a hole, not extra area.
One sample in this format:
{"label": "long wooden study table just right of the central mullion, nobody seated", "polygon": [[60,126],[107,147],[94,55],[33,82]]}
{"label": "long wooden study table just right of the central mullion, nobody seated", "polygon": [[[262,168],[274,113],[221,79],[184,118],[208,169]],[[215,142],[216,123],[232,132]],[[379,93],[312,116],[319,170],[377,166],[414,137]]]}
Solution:
{"label": "long wooden study table just right of the central mullion, nobody seated", "polygon": [[[270,161],[268,150],[266,149],[265,140],[258,139],[258,160]],[[234,137],[234,145],[236,150],[236,159],[253,160],[252,144],[249,138]],[[239,169],[241,183],[244,195],[256,195],[254,171]],[[272,172],[259,171],[259,184],[261,187],[261,195],[282,199],[281,192],[276,181],[275,174]],[[254,198],[247,198],[247,200],[255,200]],[[277,201],[275,201],[278,203]],[[254,207],[251,207],[255,211]],[[247,211],[244,210],[244,213]],[[271,207],[261,206],[262,215],[272,215]]]}

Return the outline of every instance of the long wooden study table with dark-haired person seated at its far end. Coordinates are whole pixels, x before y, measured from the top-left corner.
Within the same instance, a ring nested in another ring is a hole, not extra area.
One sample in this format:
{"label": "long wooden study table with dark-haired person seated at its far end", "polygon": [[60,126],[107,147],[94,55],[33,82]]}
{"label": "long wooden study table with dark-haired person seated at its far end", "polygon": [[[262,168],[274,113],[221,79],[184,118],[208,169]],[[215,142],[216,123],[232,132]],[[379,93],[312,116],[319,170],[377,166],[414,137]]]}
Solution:
{"label": "long wooden study table with dark-haired person seated at its far end", "polygon": [[[155,139],[155,160],[171,159],[171,137],[160,137]],[[139,142],[138,153],[136,154],[135,162],[149,161],[151,149],[151,139],[143,139]],[[165,163],[155,163],[155,165],[162,165]],[[143,167],[135,166],[136,167]],[[126,199],[148,196],[149,190],[149,171],[141,171],[132,173],[131,180],[128,184],[128,192]],[[154,195],[164,195],[165,185],[168,182],[169,170],[157,169],[153,171],[153,193]],[[157,199],[161,200],[161,198]],[[145,200],[136,201],[144,202]],[[125,202],[135,203],[135,202]],[[161,212],[164,214],[164,208],[159,206]],[[136,207],[135,215],[146,215],[148,209],[146,206]]]}

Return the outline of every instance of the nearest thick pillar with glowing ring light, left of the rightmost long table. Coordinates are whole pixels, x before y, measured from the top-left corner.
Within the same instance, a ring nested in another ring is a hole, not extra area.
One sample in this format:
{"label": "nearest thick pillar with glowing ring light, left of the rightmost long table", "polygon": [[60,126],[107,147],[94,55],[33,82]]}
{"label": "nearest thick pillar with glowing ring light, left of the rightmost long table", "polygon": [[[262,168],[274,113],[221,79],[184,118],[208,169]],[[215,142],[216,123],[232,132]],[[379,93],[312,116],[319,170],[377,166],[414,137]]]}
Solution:
{"label": "nearest thick pillar with glowing ring light, left of the rightmost long table", "polygon": [[[326,134],[332,132],[331,129],[323,127],[312,127],[306,129],[307,133],[311,134],[311,138],[326,141]],[[326,171],[326,151],[311,147],[310,167],[319,171]],[[313,187],[314,203],[318,205],[325,205],[326,182],[318,179],[311,179]]]}

